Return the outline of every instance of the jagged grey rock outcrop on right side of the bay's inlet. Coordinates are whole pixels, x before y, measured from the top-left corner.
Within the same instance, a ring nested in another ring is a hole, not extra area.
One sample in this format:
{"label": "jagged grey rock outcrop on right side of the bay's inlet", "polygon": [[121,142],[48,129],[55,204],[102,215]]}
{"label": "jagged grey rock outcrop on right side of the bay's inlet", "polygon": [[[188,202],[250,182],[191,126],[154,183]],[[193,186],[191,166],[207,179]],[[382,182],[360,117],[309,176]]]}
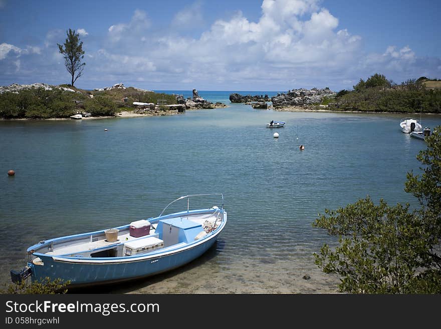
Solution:
{"label": "jagged grey rock outcrop on right side of the bay's inlet", "polygon": [[288,106],[304,106],[320,103],[323,97],[335,95],[335,92],[328,87],[325,89],[313,88],[288,90],[286,94],[278,94],[271,97],[274,108],[283,108]]}

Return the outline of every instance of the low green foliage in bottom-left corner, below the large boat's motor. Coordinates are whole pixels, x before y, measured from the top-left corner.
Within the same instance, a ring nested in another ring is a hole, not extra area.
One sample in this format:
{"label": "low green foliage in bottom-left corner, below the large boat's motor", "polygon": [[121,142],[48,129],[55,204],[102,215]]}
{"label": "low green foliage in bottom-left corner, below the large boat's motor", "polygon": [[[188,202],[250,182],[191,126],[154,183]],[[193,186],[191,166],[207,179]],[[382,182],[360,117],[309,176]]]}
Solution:
{"label": "low green foliage in bottom-left corner, below the large boat's motor", "polygon": [[51,280],[49,277],[42,279],[41,281],[34,281],[28,283],[26,280],[21,282],[12,282],[6,289],[2,289],[1,293],[9,294],[56,294],[66,293],[66,287],[70,284],[70,281],[63,281],[61,279]]}

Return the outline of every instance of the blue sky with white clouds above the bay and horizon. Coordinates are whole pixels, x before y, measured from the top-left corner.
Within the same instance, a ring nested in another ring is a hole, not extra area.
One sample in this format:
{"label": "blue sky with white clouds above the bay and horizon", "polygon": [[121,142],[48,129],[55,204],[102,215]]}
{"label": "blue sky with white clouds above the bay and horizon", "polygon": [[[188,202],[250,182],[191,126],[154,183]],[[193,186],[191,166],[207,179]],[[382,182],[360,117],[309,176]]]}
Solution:
{"label": "blue sky with white clouds above the bay and horizon", "polygon": [[375,73],[441,79],[439,0],[0,0],[0,85],[70,83],[57,43],[80,34],[75,86],[352,89]]}

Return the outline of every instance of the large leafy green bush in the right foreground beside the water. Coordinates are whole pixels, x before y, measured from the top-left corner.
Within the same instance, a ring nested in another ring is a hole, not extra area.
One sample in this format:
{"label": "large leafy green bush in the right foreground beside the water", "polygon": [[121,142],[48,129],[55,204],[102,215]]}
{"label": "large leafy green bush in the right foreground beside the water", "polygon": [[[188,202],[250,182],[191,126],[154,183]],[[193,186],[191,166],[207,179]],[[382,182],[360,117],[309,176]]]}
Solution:
{"label": "large leafy green bush in the right foreground beside the water", "polygon": [[[435,128],[441,131],[441,126]],[[349,293],[441,293],[441,134],[427,140],[417,158],[426,167],[421,177],[407,174],[406,192],[422,203],[375,205],[367,197],[336,211],[325,209],[313,223],[339,236],[314,253],[325,273],[341,277]]]}

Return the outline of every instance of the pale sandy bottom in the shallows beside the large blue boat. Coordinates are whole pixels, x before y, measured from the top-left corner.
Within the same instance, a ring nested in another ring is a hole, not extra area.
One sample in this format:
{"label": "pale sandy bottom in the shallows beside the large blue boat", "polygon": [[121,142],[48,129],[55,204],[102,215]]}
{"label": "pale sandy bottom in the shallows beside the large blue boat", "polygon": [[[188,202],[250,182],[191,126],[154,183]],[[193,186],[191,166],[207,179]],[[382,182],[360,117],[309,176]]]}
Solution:
{"label": "pale sandy bottom in the shallows beside the large blue boat", "polygon": [[[233,260],[232,260],[233,259]],[[312,257],[269,260],[222,257],[210,248],[172,271],[125,283],[70,290],[70,293],[131,294],[336,294],[340,280],[323,273]]]}

